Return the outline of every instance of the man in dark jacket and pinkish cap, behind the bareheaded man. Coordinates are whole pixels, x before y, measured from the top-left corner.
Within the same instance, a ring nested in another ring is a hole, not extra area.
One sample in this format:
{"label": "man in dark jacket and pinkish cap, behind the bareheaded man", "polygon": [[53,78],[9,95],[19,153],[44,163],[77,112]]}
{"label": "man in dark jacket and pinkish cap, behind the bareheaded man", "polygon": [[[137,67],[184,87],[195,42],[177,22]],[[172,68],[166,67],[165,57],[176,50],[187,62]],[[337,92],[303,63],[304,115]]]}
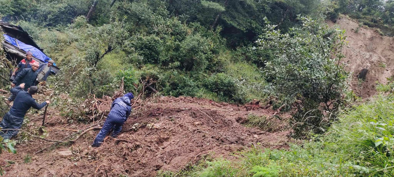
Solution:
{"label": "man in dark jacket and pinkish cap, behind the bareheaded man", "polygon": [[[22,69],[22,71],[19,72],[17,77],[15,77],[14,81],[11,83],[11,87],[19,86],[20,84],[24,83],[24,91],[28,91],[28,89],[31,86],[34,86],[35,80],[37,79],[37,69],[39,67],[38,62],[35,62],[32,64],[32,68],[26,68]],[[11,103],[15,99],[17,95],[11,94],[11,96],[8,98],[7,103]]]}

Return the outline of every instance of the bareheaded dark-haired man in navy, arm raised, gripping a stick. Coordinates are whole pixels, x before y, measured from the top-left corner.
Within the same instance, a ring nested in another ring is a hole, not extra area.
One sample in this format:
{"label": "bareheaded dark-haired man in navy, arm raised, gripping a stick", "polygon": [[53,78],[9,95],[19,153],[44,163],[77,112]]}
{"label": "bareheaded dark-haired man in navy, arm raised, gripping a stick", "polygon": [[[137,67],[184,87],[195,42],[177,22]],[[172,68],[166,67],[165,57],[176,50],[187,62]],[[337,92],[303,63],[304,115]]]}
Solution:
{"label": "bareheaded dark-haired man in navy, arm raised, gripping a stick", "polygon": [[20,127],[22,127],[24,116],[31,107],[34,109],[41,109],[46,104],[50,103],[49,101],[45,101],[41,104],[35,102],[32,95],[37,93],[38,88],[36,86],[31,86],[28,91],[24,91],[24,88],[25,83],[22,83],[11,89],[11,93],[16,95],[14,105],[9,109],[6,115],[4,115],[3,120],[0,123],[0,136],[4,139],[11,139],[11,137],[18,134],[19,130],[2,131],[2,129],[20,129]]}

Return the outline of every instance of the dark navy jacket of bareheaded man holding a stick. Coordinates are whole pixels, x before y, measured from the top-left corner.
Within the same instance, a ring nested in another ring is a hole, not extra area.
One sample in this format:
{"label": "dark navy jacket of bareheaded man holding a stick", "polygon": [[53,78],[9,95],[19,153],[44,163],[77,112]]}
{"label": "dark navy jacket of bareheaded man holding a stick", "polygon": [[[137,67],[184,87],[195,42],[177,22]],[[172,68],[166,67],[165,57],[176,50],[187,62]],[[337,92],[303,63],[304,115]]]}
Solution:
{"label": "dark navy jacket of bareheaded man holding a stick", "polygon": [[23,118],[30,107],[33,107],[34,109],[41,109],[46,105],[46,102],[41,104],[35,102],[32,95],[27,91],[22,90],[20,86],[12,88],[11,93],[17,95],[14,100],[14,105],[9,110],[9,113],[15,117]]}

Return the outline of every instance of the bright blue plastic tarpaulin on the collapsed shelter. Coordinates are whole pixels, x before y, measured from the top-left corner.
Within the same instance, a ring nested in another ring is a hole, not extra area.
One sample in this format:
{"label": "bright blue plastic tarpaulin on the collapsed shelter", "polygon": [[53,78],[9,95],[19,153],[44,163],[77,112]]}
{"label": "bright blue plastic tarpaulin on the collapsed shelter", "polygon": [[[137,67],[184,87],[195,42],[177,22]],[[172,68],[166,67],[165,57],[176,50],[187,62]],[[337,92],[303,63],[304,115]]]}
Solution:
{"label": "bright blue plastic tarpaulin on the collapsed shelter", "polygon": [[[41,50],[39,50],[33,46],[30,46],[28,44],[25,44],[16,38],[13,38],[13,37],[8,36],[6,34],[4,34],[4,38],[9,44],[12,44],[13,46],[18,47],[19,49],[22,49],[25,52],[30,51],[35,58],[37,58],[45,63],[48,63],[48,61],[51,59],[48,56],[46,56],[45,53],[43,53]],[[56,64],[54,64],[54,66],[56,66]]]}

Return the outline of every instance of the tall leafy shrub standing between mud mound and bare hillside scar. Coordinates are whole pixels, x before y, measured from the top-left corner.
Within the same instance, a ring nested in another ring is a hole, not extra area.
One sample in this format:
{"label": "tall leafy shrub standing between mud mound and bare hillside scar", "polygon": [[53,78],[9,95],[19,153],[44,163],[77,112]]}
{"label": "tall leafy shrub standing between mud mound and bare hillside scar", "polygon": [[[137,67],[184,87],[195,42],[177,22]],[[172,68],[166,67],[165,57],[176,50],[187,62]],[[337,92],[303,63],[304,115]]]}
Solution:
{"label": "tall leafy shrub standing between mud mound and bare hillside scar", "polygon": [[346,37],[344,31],[332,33],[319,20],[298,19],[302,26],[286,34],[268,24],[267,33],[257,42],[275,54],[262,71],[269,82],[266,91],[287,108],[296,106],[290,126],[294,137],[305,137],[309,131],[323,133],[335,120],[324,119],[325,111],[333,113],[342,106],[341,93],[348,74],[337,63],[343,58],[340,48]]}

